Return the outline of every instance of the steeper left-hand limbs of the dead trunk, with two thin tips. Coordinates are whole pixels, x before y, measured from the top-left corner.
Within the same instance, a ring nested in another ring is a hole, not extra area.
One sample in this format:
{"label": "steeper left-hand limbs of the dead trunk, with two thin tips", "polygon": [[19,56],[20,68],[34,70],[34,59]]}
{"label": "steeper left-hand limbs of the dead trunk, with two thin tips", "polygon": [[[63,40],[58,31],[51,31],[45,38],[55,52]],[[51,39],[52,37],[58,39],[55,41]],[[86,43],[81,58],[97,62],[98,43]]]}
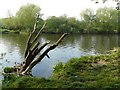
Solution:
{"label": "steeper left-hand limbs of the dead trunk, with two thin tips", "polygon": [[[24,64],[23,64],[22,69],[20,71],[23,71],[23,70],[26,69],[26,67],[35,58],[34,52],[38,51],[37,49],[38,49],[38,46],[39,46],[40,43],[37,42],[35,45],[34,45],[34,43],[37,41],[38,37],[40,36],[40,33],[42,32],[42,30],[44,29],[44,27],[46,25],[46,22],[45,22],[44,25],[42,26],[42,28],[40,29],[39,33],[36,35],[38,19],[39,19],[38,17],[39,17],[39,15],[37,15],[37,19],[36,19],[36,22],[34,24],[34,29],[33,29],[32,33],[30,33],[30,35],[28,37],[27,44],[26,44],[26,49],[25,49]],[[36,35],[36,37],[34,37],[35,35]]]}

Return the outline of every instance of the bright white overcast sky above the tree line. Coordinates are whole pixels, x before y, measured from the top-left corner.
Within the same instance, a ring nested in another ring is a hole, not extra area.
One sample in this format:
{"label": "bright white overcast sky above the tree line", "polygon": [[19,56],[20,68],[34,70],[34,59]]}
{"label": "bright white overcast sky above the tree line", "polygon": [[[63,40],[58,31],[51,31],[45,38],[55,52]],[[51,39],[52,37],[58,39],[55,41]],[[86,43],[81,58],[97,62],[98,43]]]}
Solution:
{"label": "bright white overcast sky above the tree line", "polygon": [[35,4],[41,8],[43,18],[49,16],[61,16],[66,14],[68,17],[80,18],[80,12],[86,8],[96,10],[99,7],[115,7],[113,0],[108,0],[95,4],[91,0],[0,0],[0,18],[8,17],[8,11],[15,15],[21,6],[27,3]]}

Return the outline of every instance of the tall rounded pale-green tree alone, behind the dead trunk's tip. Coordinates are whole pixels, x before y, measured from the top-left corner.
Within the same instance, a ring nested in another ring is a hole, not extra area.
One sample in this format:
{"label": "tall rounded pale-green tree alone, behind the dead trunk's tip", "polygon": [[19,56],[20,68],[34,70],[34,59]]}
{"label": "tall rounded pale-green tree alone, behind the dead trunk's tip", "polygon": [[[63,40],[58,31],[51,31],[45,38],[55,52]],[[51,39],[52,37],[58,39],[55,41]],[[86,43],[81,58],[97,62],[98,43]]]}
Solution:
{"label": "tall rounded pale-green tree alone, behind the dead trunk's tip", "polygon": [[[36,13],[40,14],[40,8],[34,4],[27,4],[22,6],[16,13],[18,27],[22,29],[33,29]],[[42,14],[40,14],[40,17]]]}

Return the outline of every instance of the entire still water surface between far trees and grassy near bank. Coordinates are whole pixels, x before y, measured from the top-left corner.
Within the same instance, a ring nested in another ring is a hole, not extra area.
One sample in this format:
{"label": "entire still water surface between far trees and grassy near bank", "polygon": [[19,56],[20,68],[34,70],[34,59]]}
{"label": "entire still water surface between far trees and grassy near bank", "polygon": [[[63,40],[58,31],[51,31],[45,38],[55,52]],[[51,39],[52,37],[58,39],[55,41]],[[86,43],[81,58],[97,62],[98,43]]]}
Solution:
{"label": "entire still water surface between far trees and grassy near bank", "polygon": [[[42,34],[38,41],[42,44],[50,40],[53,44],[59,37],[55,34]],[[0,71],[6,66],[13,66],[14,62],[22,62],[27,38],[26,34],[0,35],[0,54],[3,53],[0,56]],[[52,74],[53,66],[59,62],[65,63],[70,58],[83,55],[104,54],[117,46],[118,35],[68,35],[56,49],[48,53],[49,59],[45,57],[33,68],[32,74],[47,78]]]}

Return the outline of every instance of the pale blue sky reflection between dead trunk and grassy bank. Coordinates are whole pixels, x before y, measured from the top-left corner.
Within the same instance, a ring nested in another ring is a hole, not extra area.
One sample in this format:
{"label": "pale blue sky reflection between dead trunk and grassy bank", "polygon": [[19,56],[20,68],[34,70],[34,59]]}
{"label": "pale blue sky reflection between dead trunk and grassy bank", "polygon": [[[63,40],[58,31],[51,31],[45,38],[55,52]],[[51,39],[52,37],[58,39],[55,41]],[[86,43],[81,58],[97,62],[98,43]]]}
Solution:
{"label": "pale blue sky reflection between dead trunk and grassy bank", "polygon": [[45,57],[42,62],[33,68],[33,75],[48,77],[52,74],[53,66],[59,62],[66,63],[70,58],[83,55],[95,55],[93,51],[83,52],[78,47],[57,47],[48,53],[50,58]]}

